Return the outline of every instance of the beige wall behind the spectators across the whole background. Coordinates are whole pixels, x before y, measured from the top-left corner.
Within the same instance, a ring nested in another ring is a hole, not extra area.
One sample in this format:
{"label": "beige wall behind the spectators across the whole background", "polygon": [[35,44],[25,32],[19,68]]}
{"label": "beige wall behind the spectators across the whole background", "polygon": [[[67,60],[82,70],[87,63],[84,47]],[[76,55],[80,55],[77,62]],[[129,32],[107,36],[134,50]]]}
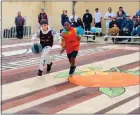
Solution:
{"label": "beige wall behind the spectators across the whole background", "polygon": [[[95,12],[95,8],[99,8],[104,16],[108,7],[112,7],[113,12],[118,11],[118,7],[122,6],[131,17],[139,10],[139,2],[78,2],[75,5],[76,15],[83,17],[86,9],[90,13]],[[27,19],[27,25],[32,27],[32,32],[37,30],[38,14],[41,8],[45,8],[45,12],[49,16],[49,24],[60,30],[62,10],[68,11],[68,16],[72,15],[72,2],[3,2],[2,3],[2,21],[3,29],[14,26],[14,19],[17,12],[21,11],[22,16]],[[105,21],[103,20],[103,32],[105,32]]]}

